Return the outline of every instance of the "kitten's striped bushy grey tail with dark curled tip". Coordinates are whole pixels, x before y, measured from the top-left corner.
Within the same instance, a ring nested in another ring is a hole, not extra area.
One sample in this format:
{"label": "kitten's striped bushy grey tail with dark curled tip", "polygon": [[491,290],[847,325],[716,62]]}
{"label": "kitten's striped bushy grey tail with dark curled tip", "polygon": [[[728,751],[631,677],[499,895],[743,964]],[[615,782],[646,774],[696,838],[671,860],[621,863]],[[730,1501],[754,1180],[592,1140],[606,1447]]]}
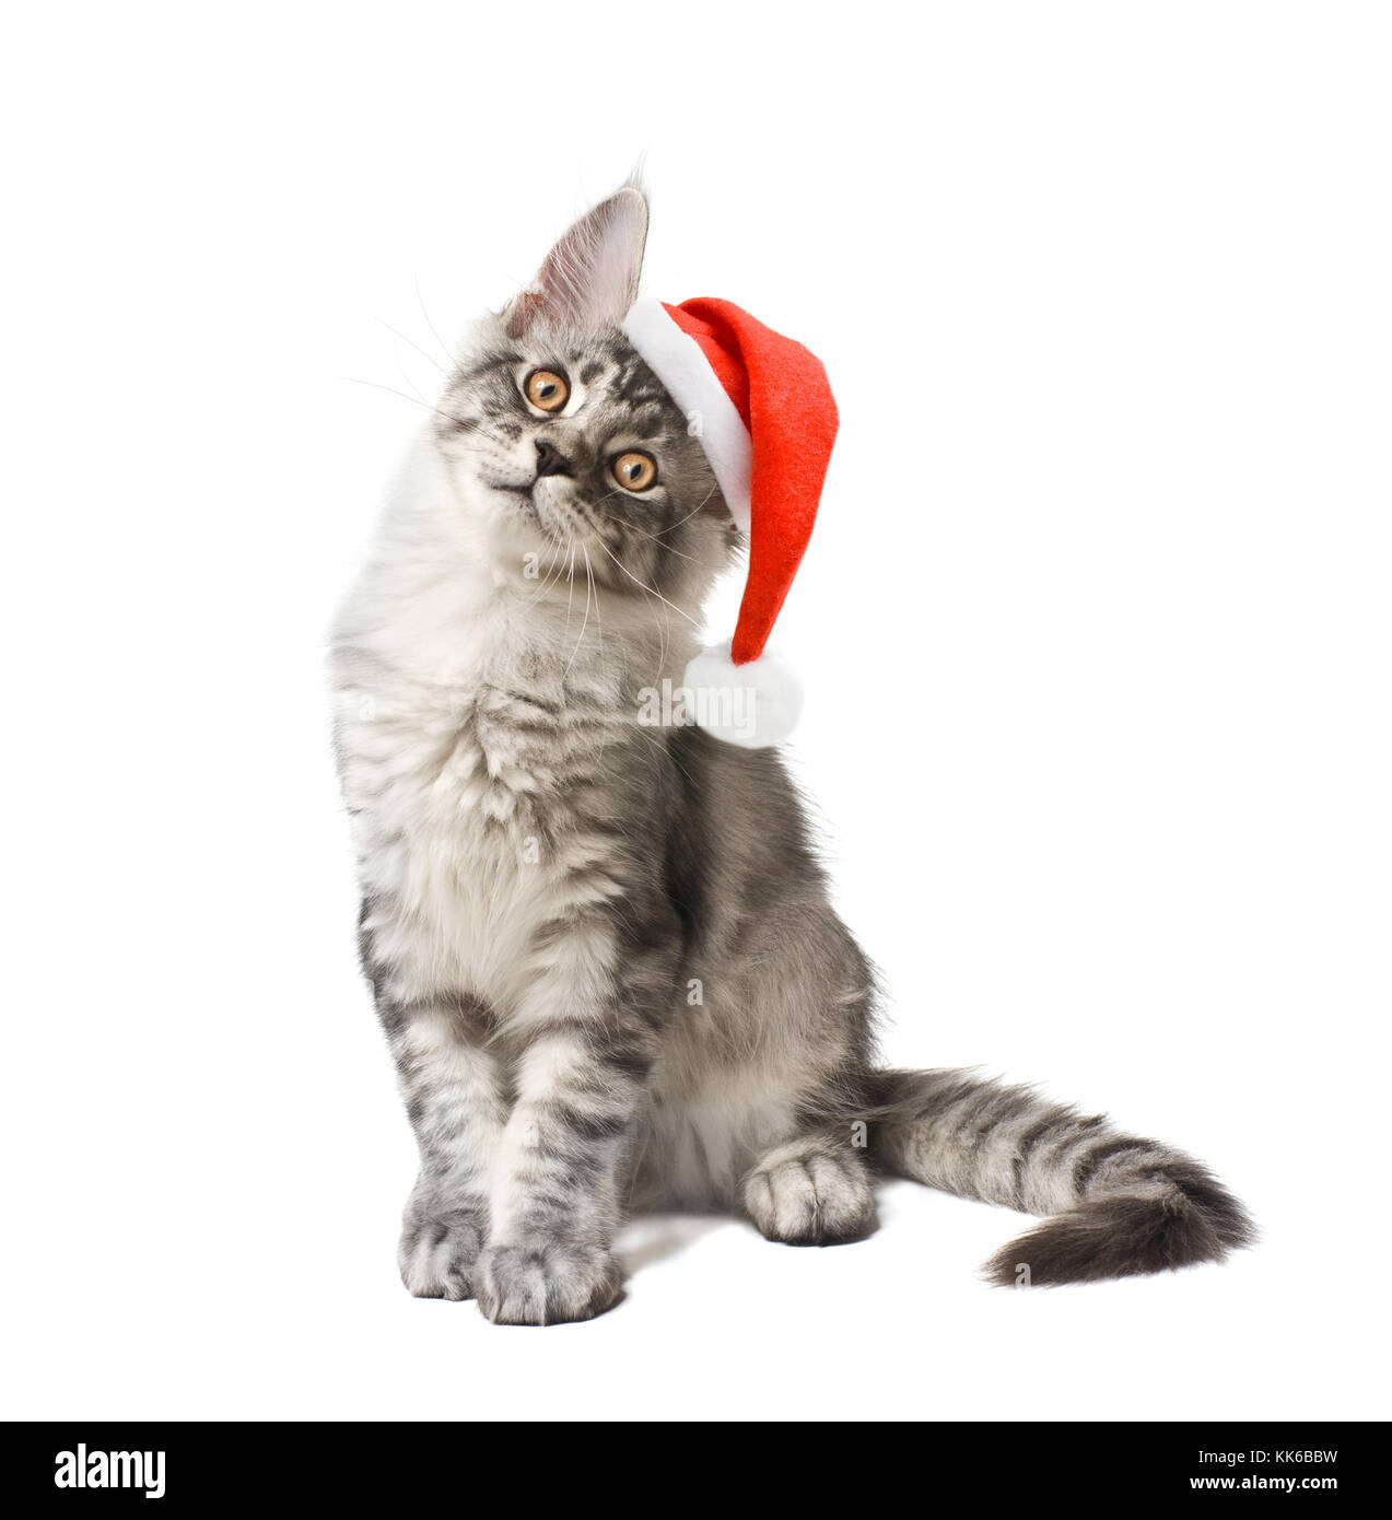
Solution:
{"label": "kitten's striped bushy grey tail with dark curled tip", "polygon": [[1207,1167],[1102,1116],[974,1072],[877,1072],[874,1082],[872,1154],[886,1172],[1042,1216],[983,1268],[997,1286],[1164,1272],[1257,1237]]}

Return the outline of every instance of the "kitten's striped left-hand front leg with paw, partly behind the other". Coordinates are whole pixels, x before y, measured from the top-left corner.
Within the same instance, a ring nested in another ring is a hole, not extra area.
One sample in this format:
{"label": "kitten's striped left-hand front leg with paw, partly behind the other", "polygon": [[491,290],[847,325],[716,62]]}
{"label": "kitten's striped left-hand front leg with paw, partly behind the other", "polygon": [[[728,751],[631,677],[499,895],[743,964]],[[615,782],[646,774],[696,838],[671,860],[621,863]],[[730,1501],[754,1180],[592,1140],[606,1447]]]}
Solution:
{"label": "kitten's striped left-hand front leg with paw, partly behind the other", "polygon": [[416,1298],[473,1298],[488,1231],[488,1170],[506,1119],[486,1012],[471,997],[381,1009],[421,1152],[397,1263]]}

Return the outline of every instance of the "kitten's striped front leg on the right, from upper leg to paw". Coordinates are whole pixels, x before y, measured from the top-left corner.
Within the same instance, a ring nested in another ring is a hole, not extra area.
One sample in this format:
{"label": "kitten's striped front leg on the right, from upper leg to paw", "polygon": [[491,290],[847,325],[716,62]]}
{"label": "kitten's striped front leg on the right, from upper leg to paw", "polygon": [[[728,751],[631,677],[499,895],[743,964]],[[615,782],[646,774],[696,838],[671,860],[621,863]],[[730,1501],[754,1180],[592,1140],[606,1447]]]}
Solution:
{"label": "kitten's striped front leg on the right, from upper leg to paw", "polygon": [[515,1104],[489,1192],[479,1307],[498,1324],[590,1319],[618,1298],[609,1246],[626,1146],[666,1005],[673,950],[618,953],[608,929],[570,926],[546,947],[523,1006]]}

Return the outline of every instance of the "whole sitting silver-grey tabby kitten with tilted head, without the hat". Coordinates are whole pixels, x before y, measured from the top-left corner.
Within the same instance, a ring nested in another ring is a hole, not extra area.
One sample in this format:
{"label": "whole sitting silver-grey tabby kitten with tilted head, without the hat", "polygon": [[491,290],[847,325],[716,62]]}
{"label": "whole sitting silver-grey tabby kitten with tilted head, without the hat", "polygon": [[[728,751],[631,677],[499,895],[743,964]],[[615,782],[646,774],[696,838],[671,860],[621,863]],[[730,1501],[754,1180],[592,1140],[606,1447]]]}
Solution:
{"label": "whole sitting silver-grey tabby kitten with tilted head, without the hat", "polygon": [[638,720],[740,549],[618,330],[646,231],[625,187],[477,327],[333,635],[362,961],[421,1154],[406,1286],[585,1319],[626,1213],[833,1245],[874,1228],[875,1169],[1046,1216],[994,1283],[1222,1259],[1251,1225],[1182,1152],[878,1070],[872,970],[777,751]]}

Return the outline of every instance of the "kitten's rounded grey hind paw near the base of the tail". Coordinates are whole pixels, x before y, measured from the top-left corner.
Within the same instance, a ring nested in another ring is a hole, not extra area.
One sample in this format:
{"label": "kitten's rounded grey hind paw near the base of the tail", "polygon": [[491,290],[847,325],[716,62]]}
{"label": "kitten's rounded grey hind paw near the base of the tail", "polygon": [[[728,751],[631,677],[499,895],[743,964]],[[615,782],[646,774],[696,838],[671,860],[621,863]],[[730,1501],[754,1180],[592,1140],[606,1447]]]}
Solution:
{"label": "kitten's rounded grey hind paw near the base of the tail", "polygon": [[763,1155],[745,1178],[745,1211],[769,1240],[842,1245],[875,1227],[863,1155],[846,1135],[801,1135]]}

